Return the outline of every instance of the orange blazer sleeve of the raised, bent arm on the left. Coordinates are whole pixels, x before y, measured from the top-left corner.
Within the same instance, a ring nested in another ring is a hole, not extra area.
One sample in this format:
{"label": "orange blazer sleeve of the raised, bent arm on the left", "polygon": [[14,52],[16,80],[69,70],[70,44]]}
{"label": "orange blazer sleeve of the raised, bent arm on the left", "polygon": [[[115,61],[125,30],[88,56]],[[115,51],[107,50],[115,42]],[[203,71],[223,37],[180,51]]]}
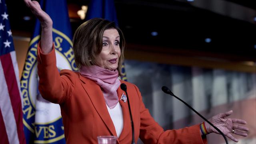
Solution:
{"label": "orange blazer sleeve of the raised, bent arm on the left", "polygon": [[40,42],[38,43],[38,89],[42,97],[52,103],[65,102],[74,90],[74,72],[64,70],[59,72],[56,66],[56,54],[54,50],[48,54],[42,54]]}

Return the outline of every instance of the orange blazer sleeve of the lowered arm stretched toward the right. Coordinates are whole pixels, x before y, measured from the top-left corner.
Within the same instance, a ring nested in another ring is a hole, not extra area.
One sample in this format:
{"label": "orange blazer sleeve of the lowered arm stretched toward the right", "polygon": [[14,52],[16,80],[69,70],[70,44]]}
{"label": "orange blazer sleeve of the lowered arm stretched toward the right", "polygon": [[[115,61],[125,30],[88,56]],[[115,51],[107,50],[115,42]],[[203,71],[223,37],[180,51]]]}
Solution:
{"label": "orange blazer sleeve of the lowered arm stretched toward the right", "polygon": [[145,108],[140,91],[135,87],[140,99],[140,139],[145,144],[207,144],[206,137],[200,134],[199,124],[164,131]]}

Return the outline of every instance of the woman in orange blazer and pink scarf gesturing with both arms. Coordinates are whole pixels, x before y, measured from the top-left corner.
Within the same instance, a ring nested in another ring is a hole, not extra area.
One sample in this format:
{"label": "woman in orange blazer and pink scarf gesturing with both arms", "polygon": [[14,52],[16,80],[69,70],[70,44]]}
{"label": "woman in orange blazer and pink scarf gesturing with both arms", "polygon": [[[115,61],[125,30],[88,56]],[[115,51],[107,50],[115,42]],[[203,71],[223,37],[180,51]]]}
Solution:
{"label": "woman in orange blazer and pink scarf gesturing with both arms", "polygon": [[[208,123],[164,131],[142,102],[137,86],[118,79],[124,58],[124,36],[113,22],[96,18],[84,22],[74,34],[74,54],[79,72],[56,67],[52,42],[52,20],[36,1],[24,0],[42,26],[38,44],[39,90],[42,96],[60,104],[66,142],[97,143],[97,136],[117,136],[118,143],[132,141],[128,103],[120,98],[127,86],[134,121],[134,139],[144,143],[206,144],[206,134],[218,133]],[[226,118],[232,111],[210,119],[228,138],[247,136],[244,120]]]}

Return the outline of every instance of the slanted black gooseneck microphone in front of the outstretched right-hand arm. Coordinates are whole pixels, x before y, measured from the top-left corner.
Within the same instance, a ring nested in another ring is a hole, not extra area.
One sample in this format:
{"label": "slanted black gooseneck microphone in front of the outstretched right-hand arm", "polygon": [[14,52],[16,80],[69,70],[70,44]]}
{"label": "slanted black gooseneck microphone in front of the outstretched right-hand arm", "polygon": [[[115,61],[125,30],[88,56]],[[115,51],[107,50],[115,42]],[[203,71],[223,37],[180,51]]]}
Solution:
{"label": "slanted black gooseneck microphone in front of the outstretched right-hand arm", "polygon": [[186,106],[188,106],[191,110],[193,110],[196,114],[198,114],[198,116],[200,116],[202,119],[204,119],[206,122],[208,122],[208,124],[210,124],[213,128],[215,128],[225,139],[226,144],[228,144],[228,140],[225,136],[225,134],[223,134],[222,131],[220,131],[216,126],[214,126],[211,122],[209,122],[206,118],[204,118],[204,116],[202,116],[201,114],[199,114],[196,110],[194,110],[194,108],[192,108],[189,104],[187,104],[186,102],[184,102],[182,99],[178,98],[177,96],[175,96],[171,90],[169,88],[167,88],[166,86],[162,86],[162,91],[165,92],[166,94],[170,94],[171,96],[174,96],[175,98],[177,98],[178,100],[180,100],[181,102],[183,102]]}

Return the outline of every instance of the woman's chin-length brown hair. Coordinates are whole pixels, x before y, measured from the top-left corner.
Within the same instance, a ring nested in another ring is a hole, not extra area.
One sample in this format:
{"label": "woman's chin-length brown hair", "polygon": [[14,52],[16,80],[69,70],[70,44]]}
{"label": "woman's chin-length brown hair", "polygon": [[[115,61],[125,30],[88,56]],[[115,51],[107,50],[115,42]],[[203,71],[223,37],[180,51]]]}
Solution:
{"label": "woman's chin-length brown hair", "polygon": [[124,34],[114,22],[102,18],[93,18],[81,24],[74,34],[73,49],[76,66],[91,66],[95,64],[96,56],[102,50],[102,37],[105,30],[114,28],[120,36],[121,55],[118,62],[118,72],[121,76],[122,62],[124,60]]}

